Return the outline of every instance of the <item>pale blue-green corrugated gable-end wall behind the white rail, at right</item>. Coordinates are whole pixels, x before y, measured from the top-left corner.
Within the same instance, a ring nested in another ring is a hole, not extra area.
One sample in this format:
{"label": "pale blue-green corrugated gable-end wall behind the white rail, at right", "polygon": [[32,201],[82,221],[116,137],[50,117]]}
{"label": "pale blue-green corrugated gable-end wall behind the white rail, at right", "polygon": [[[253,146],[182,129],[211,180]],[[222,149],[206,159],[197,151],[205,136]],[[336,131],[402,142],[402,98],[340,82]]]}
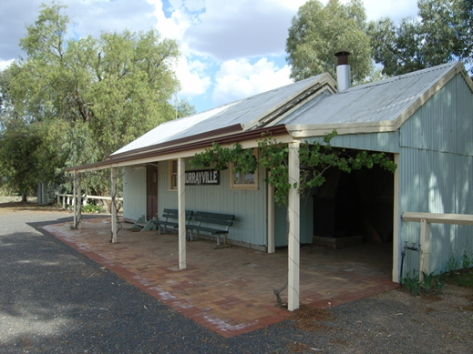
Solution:
{"label": "pale blue-green corrugated gable-end wall behind the white rail, at right", "polygon": [[[473,95],[463,77],[455,76],[419,108],[399,137],[399,217],[406,211],[473,214]],[[418,247],[419,223],[400,218],[399,233],[401,250],[405,242]],[[432,224],[430,272],[446,270],[447,261],[465,251],[471,257],[472,237],[471,227]],[[410,275],[419,258],[407,251]]]}

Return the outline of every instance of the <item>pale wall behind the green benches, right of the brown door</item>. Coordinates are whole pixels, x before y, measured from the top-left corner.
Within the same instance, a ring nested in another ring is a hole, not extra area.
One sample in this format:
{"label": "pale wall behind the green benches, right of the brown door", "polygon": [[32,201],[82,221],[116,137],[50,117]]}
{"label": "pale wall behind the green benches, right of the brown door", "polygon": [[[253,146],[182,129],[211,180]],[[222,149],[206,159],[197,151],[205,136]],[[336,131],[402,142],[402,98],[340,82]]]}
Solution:
{"label": "pale wall behind the green benches, right of the brown door", "polygon": [[[189,161],[186,170],[191,170]],[[158,166],[158,215],[178,207],[177,191],[169,190],[169,161]],[[235,215],[228,238],[254,246],[267,246],[267,192],[264,170],[258,173],[258,189],[231,189],[230,169],[221,171],[219,186],[186,186],[186,209]]]}

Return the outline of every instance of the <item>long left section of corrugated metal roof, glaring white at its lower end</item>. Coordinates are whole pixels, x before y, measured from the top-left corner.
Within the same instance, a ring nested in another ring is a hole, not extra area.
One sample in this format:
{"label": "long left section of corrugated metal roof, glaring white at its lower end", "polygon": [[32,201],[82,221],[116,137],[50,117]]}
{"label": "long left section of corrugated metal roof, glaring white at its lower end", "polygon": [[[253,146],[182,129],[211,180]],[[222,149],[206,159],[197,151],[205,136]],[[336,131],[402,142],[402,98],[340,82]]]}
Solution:
{"label": "long left section of corrugated metal roof, glaring white at its lower end", "polygon": [[218,106],[196,115],[163,123],[125,147],[120,148],[118,151],[114,152],[111,157],[116,154],[143,147],[150,147],[182,137],[195,136],[225,126],[233,126],[236,124],[244,125],[252,121],[252,119],[261,116],[263,113],[271,111],[272,107],[279,106],[291,96],[305,90],[307,86],[314,85],[321,76],[310,77],[291,85],[243,98],[239,101]]}

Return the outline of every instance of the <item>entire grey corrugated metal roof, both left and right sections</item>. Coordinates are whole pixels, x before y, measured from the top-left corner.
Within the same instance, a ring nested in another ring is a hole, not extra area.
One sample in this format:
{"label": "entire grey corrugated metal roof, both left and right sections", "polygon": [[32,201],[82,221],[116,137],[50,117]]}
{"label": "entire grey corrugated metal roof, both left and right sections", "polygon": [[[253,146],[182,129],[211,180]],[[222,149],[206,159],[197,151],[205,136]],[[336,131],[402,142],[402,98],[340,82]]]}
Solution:
{"label": "entire grey corrugated metal roof, both left and right sections", "polygon": [[[412,115],[416,107],[423,104],[421,101],[427,100],[430,97],[428,95],[437,92],[436,86],[445,85],[446,77],[449,80],[460,68],[463,68],[461,64],[452,62],[370,84],[353,86],[334,95],[324,92],[323,95],[315,96],[287,116],[282,116],[283,118],[278,119],[276,124],[285,125],[293,137],[323,136],[321,132],[324,125],[335,126],[337,130],[341,127],[338,125],[351,126],[352,130],[343,132],[341,129],[342,133],[339,131],[339,134],[353,133],[353,126],[359,126],[355,128],[360,130],[359,132],[356,130],[356,133],[375,132],[373,126],[378,123],[387,124],[387,130],[383,131],[392,131],[404,122],[403,119]],[[326,76],[324,74],[310,77],[193,116],[163,123],[129,145],[120,148],[111,157],[136,149],[198,136],[226,126],[244,126],[277,111],[283,104],[292,102],[295,96],[302,94],[310,87],[323,85],[322,83],[326,82],[324,81]],[[402,119],[399,118],[401,116]],[[263,119],[260,123],[262,122]],[[274,123],[268,123],[266,126],[272,124]],[[365,126],[370,125],[371,130],[366,130]],[[320,131],[317,130],[319,126],[322,129]],[[258,127],[262,127],[262,124]],[[331,129],[332,127],[328,131]]]}

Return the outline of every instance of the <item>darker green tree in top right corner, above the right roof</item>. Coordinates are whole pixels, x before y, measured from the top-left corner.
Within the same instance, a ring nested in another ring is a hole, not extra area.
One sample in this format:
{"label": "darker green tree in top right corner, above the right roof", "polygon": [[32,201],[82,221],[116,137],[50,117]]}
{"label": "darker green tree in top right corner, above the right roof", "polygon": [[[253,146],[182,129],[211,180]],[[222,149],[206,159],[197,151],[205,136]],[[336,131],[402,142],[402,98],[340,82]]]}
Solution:
{"label": "darker green tree in top right corner, above the right roof", "polygon": [[417,5],[418,18],[398,26],[390,18],[370,23],[367,32],[383,73],[395,76],[452,60],[472,64],[473,2],[419,0]]}

